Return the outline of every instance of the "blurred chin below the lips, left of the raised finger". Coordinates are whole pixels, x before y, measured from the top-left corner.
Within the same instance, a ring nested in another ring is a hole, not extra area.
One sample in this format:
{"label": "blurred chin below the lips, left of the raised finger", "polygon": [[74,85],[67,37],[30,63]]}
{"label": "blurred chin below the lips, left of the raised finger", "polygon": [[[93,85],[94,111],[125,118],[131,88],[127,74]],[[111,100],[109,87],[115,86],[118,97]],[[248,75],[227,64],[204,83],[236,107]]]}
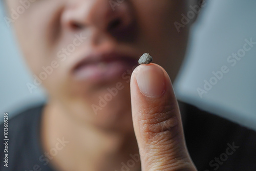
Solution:
{"label": "blurred chin below the lips, left of the raised finger", "polygon": [[[126,75],[125,75],[126,76]],[[63,101],[77,120],[104,130],[133,131],[130,77],[105,84],[73,84]],[[88,85],[89,84],[89,85]],[[75,93],[74,93],[75,92]]]}

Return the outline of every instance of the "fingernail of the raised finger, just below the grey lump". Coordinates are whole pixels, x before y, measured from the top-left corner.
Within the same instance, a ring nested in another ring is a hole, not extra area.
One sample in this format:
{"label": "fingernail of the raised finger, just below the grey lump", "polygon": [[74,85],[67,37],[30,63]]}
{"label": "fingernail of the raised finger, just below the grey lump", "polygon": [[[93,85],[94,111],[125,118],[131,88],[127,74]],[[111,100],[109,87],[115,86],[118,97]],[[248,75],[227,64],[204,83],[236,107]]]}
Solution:
{"label": "fingernail of the raised finger, just below the grey lump", "polygon": [[163,71],[157,66],[140,66],[136,80],[140,92],[148,97],[157,97],[165,92]]}

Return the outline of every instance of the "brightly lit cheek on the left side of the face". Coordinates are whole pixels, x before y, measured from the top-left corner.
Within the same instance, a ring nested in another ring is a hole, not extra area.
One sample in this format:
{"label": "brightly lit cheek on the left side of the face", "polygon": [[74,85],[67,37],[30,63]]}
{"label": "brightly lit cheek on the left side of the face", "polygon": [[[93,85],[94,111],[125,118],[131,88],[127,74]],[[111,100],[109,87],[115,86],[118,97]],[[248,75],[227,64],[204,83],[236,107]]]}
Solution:
{"label": "brightly lit cheek on the left side of the face", "polygon": [[[18,5],[12,4],[12,9]],[[54,23],[58,23],[61,7],[60,1],[35,1],[13,24],[23,55],[32,72],[37,75],[56,56],[52,33]]]}

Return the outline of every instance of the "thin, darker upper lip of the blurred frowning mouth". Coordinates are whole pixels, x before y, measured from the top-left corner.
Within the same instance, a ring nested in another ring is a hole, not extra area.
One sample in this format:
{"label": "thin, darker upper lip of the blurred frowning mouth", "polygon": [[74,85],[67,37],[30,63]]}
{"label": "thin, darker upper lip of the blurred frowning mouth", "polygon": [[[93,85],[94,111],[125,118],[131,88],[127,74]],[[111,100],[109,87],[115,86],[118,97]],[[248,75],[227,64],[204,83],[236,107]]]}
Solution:
{"label": "thin, darker upper lip of the blurred frowning mouth", "polygon": [[113,60],[125,60],[128,63],[133,63],[137,65],[138,59],[135,58],[137,55],[129,55],[129,54],[122,54],[116,52],[110,53],[91,53],[87,56],[81,57],[74,65],[73,71],[77,71],[80,67],[84,65],[89,65],[90,63],[97,63],[97,62],[110,62]]}

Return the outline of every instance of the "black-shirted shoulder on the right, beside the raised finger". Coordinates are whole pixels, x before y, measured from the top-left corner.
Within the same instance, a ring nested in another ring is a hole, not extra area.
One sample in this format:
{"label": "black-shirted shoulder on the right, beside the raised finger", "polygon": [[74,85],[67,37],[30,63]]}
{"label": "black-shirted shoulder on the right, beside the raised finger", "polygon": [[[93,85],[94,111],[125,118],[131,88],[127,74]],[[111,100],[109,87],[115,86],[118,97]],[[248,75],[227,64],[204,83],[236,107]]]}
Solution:
{"label": "black-shirted shoulder on the right, beside the raised finger", "polygon": [[256,170],[256,132],[186,105],[184,134],[199,170]]}

